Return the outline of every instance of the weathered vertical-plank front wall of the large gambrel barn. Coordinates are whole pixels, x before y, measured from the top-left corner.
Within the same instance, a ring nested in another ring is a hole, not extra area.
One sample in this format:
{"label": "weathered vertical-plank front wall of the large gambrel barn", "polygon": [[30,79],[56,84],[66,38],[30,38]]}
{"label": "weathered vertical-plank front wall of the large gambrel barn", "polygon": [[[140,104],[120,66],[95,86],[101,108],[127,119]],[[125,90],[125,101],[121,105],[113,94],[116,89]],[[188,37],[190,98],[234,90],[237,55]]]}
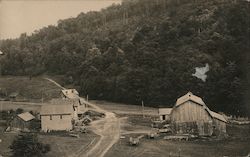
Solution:
{"label": "weathered vertical-plank front wall of the large gambrel barn", "polygon": [[192,101],[187,101],[171,113],[171,123],[176,133],[192,133],[198,135],[212,135],[212,117],[205,108]]}

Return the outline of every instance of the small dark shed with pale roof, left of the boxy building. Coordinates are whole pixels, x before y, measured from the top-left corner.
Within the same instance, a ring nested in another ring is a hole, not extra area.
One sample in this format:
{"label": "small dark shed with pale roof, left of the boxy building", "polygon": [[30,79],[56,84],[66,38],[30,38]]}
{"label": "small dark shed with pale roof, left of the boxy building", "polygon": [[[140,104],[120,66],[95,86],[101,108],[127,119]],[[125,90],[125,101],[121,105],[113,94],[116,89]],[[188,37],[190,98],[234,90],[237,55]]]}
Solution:
{"label": "small dark shed with pale roof, left of the boxy building", "polygon": [[28,131],[34,119],[35,117],[29,112],[18,114],[10,121],[10,128],[11,130]]}

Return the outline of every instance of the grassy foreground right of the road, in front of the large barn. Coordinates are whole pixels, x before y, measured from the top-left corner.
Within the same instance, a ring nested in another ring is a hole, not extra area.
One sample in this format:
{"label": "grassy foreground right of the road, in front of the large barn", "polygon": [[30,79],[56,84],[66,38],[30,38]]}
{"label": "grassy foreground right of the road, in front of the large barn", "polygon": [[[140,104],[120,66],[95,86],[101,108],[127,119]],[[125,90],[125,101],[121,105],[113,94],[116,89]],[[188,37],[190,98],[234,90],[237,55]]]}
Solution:
{"label": "grassy foreground right of the road, in front of the large barn", "polygon": [[129,146],[128,138],[120,139],[105,157],[243,157],[250,153],[250,125],[228,126],[229,138],[226,140],[167,141],[146,139],[140,145]]}

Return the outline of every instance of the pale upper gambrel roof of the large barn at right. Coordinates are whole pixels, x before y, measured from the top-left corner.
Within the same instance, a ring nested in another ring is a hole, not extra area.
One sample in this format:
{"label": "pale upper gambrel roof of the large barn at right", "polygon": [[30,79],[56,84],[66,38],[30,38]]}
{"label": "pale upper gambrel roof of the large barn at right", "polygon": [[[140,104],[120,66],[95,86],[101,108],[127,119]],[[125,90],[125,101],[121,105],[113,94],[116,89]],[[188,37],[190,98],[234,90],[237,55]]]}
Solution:
{"label": "pale upper gambrel roof of the large barn at right", "polygon": [[203,102],[203,100],[200,97],[193,95],[193,93],[191,93],[191,92],[188,92],[187,94],[185,94],[182,97],[177,99],[176,106],[181,105],[184,102],[189,101],[189,100],[194,101],[200,105],[205,105],[205,103]]}

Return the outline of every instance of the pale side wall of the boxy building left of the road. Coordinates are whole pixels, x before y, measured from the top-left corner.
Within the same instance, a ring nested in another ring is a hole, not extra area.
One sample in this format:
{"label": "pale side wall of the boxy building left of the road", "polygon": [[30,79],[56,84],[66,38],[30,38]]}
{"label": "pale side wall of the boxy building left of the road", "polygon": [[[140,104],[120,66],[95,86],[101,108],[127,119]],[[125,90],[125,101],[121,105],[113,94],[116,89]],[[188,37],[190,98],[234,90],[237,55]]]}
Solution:
{"label": "pale side wall of the boxy building left of the road", "polygon": [[42,131],[48,130],[71,130],[72,129],[72,116],[71,115],[52,115],[50,120],[49,115],[41,115]]}

